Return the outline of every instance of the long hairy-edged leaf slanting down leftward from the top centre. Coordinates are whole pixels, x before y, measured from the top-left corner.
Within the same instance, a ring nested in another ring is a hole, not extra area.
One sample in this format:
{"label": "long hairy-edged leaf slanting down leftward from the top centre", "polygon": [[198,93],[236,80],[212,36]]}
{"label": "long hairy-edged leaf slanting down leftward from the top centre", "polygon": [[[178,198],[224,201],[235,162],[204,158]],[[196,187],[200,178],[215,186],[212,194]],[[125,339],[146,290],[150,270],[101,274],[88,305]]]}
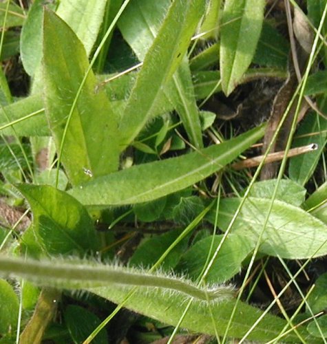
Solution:
{"label": "long hairy-edged leaf slanting down leftward from the top centre", "polygon": [[[145,56],[126,105],[120,133],[126,147],[145,126],[161,89],[180,65],[204,12],[204,0],[173,1],[154,43]],[[154,78],[156,75],[156,78]]]}

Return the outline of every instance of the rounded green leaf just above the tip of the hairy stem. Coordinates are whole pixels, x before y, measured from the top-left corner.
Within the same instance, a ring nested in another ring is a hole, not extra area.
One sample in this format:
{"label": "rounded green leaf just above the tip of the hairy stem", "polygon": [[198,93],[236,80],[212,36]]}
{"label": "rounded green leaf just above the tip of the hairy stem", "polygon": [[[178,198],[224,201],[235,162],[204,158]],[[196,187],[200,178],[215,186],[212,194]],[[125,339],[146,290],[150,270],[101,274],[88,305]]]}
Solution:
{"label": "rounded green leaf just above the tip of the hairy stem", "polygon": [[[193,245],[184,255],[182,255],[176,270],[186,273],[191,279],[197,279],[202,272],[208,259],[208,252],[213,241],[213,250],[209,259],[218,248],[223,235],[206,237]],[[224,283],[240,272],[242,261],[253,250],[254,243],[249,238],[239,234],[231,233],[218,253],[206,281],[212,283]]]}

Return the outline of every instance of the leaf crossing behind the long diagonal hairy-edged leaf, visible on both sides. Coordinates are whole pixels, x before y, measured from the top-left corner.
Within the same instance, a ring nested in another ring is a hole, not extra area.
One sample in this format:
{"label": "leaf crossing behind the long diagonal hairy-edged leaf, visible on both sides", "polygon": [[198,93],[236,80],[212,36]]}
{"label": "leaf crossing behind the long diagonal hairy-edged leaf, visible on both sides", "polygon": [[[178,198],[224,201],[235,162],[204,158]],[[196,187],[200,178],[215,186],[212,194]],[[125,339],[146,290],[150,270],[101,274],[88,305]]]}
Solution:
{"label": "leaf crossing behind the long diagonal hairy-edged leaf, visible on both sides", "polygon": [[[129,4],[120,18],[120,32],[140,61],[144,60],[156,38],[170,3],[169,0],[136,0]],[[178,111],[191,143],[197,148],[203,147],[200,116],[187,56],[184,56],[164,93],[169,99],[169,102],[166,100],[167,103],[171,103]]]}

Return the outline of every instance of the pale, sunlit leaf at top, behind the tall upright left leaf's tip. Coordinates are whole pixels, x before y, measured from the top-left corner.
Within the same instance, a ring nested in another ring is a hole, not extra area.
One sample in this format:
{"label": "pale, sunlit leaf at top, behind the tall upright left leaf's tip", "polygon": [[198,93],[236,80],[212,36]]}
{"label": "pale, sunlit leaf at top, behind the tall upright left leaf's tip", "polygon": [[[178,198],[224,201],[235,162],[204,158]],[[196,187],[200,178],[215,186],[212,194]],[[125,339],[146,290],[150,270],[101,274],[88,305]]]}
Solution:
{"label": "pale, sunlit leaf at top, behind the tall upright left leaf's tip", "polygon": [[103,22],[106,0],[61,0],[56,10],[76,33],[85,47],[87,56],[98,36]]}

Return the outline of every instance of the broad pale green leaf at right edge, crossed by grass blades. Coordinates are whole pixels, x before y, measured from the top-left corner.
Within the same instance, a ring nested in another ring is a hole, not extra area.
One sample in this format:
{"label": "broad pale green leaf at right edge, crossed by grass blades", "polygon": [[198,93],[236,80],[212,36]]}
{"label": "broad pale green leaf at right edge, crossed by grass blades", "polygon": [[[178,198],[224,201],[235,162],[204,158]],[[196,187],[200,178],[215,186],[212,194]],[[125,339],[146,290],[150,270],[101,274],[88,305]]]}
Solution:
{"label": "broad pale green leaf at right edge, crossed by grass blades", "polygon": [[[222,200],[218,215],[218,226],[226,230],[241,200]],[[257,241],[271,200],[249,197],[244,202],[240,214],[232,226],[233,233]],[[215,212],[209,220],[214,223]],[[302,208],[279,200],[273,207],[262,235],[260,252],[285,259],[307,259],[327,254],[327,226]]]}

